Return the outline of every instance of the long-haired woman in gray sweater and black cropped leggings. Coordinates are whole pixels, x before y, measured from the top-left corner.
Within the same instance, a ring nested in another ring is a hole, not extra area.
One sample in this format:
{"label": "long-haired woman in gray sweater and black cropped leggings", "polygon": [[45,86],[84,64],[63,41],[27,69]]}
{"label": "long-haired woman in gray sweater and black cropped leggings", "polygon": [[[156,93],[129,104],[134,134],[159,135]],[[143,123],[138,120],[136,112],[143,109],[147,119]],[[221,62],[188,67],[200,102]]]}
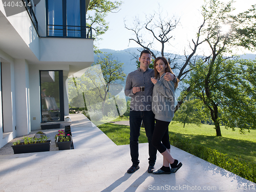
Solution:
{"label": "long-haired woman in gray sweater and black cropped leggings", "polygon": [[163,155],[163,166],[153,174],[170,174],[177,172],[182,166],[182,163],[178,163],[178,160],[170,155],[168,134],[169,123],[174,117],[175,89],[178,87],[178,79],[175,77],[173,81],[164,80],[163,76],[166,72],[174,74],[165,57],[156,58],[154,70],[155,78],[151,78],[154,83],[152,111],[155,114],[156,124],[152,144]]}

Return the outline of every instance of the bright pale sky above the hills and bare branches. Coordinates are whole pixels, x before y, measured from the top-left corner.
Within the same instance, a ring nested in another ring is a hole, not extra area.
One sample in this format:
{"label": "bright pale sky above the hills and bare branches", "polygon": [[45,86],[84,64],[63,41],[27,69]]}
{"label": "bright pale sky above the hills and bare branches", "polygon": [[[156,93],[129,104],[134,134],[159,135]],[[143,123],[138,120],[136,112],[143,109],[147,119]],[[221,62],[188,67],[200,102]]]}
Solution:
{"label": "bright pale sky above the hills and bare branches", "polygon": [[[133,27],[134,19],[137,17],[140,20],[145,20],[145,15],[153,14],[154,11],[160,10],[161,15],[168,17],[175,16],[180,18],[180,24],[173,33],[171,45],[166,47],[165,51],[182,54],[184,48],[187,49],[189,41],[195,38],[198,27],[202,23],[200,14],[203,0],[122,0],[123,4],[119,12],[109,13],[106,16],[106,21],[109,22],[109,30],[101,35],[102,40],[96,42],[99,49],[124,50],[127,48],[139,47],[136,42],[130,41],[129,38],[134,38],[132,31],[124,28],[125,24]],[[223,2],[228,2],[223,0]],[[255,0],[237,0],[234,3],[236,12],[242,12],[256,4]],[[147,34],[146,37],[151,38]],[[156,45],[156,49],[160,51],[161,46]],[[251,53],[246,51],[245,53]],[[256,54],[256,52],[253,52]]]}

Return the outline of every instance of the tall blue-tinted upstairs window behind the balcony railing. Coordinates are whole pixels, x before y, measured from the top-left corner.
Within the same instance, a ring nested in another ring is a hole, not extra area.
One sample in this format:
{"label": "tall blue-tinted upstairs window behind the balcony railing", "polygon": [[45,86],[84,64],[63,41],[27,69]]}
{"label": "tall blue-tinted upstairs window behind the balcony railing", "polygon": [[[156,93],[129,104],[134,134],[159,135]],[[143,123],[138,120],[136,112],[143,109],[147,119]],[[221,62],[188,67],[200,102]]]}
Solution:
{"label": "tall blue-tinted upstairs window behind the balcony railing", "polygon": [[86,8],[83,1],[47,0],[48,36],[86,38],[82,32],[86,30]]}

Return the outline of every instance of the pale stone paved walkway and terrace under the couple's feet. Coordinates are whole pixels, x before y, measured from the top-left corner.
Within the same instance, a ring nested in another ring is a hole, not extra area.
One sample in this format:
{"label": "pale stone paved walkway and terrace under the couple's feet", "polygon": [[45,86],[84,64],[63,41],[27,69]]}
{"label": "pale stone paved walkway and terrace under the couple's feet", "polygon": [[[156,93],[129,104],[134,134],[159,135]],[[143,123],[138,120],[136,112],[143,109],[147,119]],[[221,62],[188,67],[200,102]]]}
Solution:
{"label": "pale stone paved walkway and terrace under the couple's feet", "polygon": [[[172,155],[183,163],[177,173],[148,174],[148,148],[142,143],[140,169],[127,174],[132,165],[129,145],[115,145],[81,114],[70,116],[75,149],[1,155],[1,192],[256,191],[255,183],[173,146]],[[162,160],[158,153],[156,168]]]}

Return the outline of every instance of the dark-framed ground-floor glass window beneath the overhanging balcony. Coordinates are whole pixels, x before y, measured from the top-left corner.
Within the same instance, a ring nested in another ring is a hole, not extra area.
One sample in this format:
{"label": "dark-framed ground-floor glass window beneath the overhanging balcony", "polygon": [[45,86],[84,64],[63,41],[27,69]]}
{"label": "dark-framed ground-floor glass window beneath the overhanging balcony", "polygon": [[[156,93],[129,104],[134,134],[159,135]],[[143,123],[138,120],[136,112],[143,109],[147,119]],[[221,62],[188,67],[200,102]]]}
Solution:
{"label": "dark-framed ground-floor glass window beneath the overhanging balcony", "polygon": [[63,121],[62,71],[40,71],[42,122]]}

